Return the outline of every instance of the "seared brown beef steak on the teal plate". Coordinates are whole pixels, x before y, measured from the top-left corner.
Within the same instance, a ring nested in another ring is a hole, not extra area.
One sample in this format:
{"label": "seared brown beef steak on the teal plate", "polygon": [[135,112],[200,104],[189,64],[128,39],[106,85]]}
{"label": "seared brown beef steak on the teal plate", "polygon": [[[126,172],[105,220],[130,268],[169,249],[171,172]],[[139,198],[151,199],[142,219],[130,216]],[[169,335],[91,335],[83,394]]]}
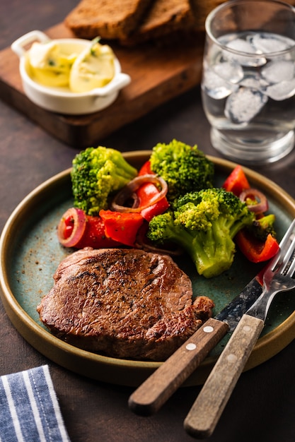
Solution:
{"label": "seared brown beef steak on the teal plate", "polygon": [[91,352],[163,361],[212,314],[192,302],[190,278],[172,258],[135,249],[83,249],[54,274],[37,311],[58,338]]}

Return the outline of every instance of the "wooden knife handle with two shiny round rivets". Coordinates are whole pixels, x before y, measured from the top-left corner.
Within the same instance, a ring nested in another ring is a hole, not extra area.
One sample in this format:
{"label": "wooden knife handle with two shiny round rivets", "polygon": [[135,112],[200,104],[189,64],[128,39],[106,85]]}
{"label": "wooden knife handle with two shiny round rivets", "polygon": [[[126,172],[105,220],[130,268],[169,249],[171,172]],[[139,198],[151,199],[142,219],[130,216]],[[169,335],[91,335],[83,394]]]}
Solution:
{"label": "wooden knife handle with two shiny round rivets", "polygon": [[229,326],[210,318],[129,398],[129,408],[142,416],[157,412],[226,334]]}

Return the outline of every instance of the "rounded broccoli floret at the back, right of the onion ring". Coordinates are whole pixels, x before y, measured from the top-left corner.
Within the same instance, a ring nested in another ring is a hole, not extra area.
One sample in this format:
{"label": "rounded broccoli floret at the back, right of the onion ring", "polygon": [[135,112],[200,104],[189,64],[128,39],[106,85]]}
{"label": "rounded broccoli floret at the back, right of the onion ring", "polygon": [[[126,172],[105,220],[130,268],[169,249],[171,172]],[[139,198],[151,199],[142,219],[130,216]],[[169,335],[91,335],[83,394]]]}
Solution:
{"label": "rounded broccoli floret at the back, right of the onion ring", "polygon": [[214,163],[197,145],[190,146],[173,140],[158,143],[151,153],[151,170],[168,184],[168,201],[174,201],[187,192],[212,187]]}

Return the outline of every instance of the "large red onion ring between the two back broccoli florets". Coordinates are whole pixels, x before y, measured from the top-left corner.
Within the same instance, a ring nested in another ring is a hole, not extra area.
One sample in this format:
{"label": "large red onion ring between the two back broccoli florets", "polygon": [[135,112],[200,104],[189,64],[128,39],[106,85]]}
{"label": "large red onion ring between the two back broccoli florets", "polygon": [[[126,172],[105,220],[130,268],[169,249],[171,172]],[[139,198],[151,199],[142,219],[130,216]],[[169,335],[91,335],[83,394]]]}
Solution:
{"label": "large red onion ring between the two back broccoli florets", "polygon": [[[159,191],[157,195],[153,196],[148,204],[139,205],[137,207],[127,207],[124,205],[129,198],[134,198],[134,192],[136,192],[142,184],[146,183],[153,183],[161,186],[161,191]],[[152,174],[140,175],[139,177],[132,179],[132,181],[130,181],[120,192],[117,193],[111,203],[111,209],[115,210],[116,212],[139,213],[141,210],[146,209],[160,201],[164,196],[166,196],[167,191],[168,185],[163,178]]]}

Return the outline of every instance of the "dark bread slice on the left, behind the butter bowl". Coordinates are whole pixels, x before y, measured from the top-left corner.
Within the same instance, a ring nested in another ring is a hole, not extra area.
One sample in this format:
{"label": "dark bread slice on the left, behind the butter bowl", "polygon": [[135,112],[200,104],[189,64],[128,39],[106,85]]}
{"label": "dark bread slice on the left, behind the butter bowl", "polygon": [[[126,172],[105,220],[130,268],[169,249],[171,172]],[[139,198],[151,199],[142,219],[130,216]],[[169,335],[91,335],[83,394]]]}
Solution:
{"label": "dark bread slice on the left, behind the butter bowl", "polygon": [[154,0],[82,0],[64,19],[77,37],[127,37]]}

